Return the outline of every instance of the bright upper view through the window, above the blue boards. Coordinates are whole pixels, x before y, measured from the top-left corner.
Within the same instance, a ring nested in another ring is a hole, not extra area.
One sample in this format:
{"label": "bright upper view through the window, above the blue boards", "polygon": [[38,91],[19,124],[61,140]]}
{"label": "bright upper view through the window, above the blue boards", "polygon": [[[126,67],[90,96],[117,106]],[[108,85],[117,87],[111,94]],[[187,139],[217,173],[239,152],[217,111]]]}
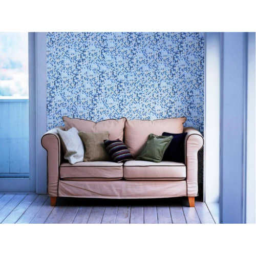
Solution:
{"label": "bright upper view through the window, above the blue boards", "polygon": [[0,97],[28,97],[28,33],[0,33],[0,56]]}

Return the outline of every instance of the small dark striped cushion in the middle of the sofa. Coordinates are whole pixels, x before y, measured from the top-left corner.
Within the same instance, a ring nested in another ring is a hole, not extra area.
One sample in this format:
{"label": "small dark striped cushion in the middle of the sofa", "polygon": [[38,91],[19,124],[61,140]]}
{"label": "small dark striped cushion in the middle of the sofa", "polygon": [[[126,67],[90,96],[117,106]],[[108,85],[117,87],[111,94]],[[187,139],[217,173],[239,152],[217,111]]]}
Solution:
{"label": "small dark striped cushion in the middle of the sofa", "polygon": [[132,154],[121,140],[104,140],[104,144],[106,151],[109,152],[114,162],[121,163],[127,160],[134,160]]}

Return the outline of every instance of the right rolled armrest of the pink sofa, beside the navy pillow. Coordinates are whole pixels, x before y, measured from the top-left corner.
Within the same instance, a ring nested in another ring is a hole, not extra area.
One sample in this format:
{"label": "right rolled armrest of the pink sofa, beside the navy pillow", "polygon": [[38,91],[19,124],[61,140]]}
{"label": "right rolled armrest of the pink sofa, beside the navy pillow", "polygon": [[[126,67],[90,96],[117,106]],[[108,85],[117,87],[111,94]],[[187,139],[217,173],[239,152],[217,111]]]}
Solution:
{"label": "right rolled armrest of the pink sofa, beside the navy pillow", "polygon": [[198,196],[198,152],[203,148],[202,134],[192,127],[184,127],[185,138],[185,164],[187,172],[187,196]]}

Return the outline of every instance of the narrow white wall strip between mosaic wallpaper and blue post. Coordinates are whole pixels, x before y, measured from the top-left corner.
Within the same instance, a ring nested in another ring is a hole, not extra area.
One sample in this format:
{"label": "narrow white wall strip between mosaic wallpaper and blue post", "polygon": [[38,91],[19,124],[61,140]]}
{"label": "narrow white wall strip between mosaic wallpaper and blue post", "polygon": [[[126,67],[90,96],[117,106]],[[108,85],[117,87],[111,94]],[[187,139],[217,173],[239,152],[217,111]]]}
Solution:
{"label": "narrow white wall strip between mosaic wallpaper and blue post", "polygon": [[220,33],[205,33],[204,199],[219,202]]}

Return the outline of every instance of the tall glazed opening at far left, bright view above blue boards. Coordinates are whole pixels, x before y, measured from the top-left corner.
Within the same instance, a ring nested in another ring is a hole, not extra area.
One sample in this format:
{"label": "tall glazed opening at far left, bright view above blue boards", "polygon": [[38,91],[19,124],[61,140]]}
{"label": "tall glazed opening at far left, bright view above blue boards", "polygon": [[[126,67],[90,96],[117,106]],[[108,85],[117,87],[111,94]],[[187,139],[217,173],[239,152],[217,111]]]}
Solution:
{"label": "tall glazed opening at far left, bright view above blue boards", "polygon": [[29,178],[28,59],[28,33],[0,33],[0,179]]}

